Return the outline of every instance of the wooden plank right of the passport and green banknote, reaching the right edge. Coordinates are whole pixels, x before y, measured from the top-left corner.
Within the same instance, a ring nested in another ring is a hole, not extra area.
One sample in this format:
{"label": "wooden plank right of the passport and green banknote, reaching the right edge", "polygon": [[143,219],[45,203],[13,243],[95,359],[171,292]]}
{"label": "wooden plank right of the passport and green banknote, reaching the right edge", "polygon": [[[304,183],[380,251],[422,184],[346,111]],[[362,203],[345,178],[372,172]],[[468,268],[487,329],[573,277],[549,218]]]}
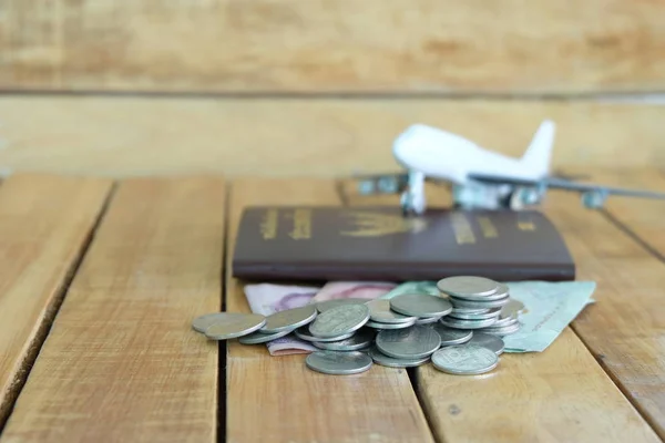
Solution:
{"label": "wooden plank right of the passport and green banknote, reaching the right edge", "polygon": [[[613,179],[605,175],[608,183],[632,183],[625,177],[623,173]],[[630,205],[631,210],[644,212],[647,218],[658,205],[663,214],[657,202],[634,200]],[[615,209],[610,213],[618,214]],[[665,439],[665,264],[602,214],[582,208],[572,195],[552,193],[546,214],[565,235],[579,278],[598,285],[594,293],[597,302],[573,322],[575,332]],[[635,229],[636,225],[626,226]]]}

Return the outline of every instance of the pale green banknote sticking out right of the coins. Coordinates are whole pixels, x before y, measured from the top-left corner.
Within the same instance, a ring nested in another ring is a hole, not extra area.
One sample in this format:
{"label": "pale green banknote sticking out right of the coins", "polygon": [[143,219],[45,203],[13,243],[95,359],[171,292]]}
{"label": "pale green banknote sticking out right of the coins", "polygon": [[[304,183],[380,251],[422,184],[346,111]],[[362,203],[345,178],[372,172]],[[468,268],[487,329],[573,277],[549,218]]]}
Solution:
{"label": "pale green banknote sticking out right of the coins", "polygon": [[521,328],[503,337],[505,352],[542,352],[571,321],[593,303],[593,281],[520,281],[507,284],[510,297],[524,303]]}

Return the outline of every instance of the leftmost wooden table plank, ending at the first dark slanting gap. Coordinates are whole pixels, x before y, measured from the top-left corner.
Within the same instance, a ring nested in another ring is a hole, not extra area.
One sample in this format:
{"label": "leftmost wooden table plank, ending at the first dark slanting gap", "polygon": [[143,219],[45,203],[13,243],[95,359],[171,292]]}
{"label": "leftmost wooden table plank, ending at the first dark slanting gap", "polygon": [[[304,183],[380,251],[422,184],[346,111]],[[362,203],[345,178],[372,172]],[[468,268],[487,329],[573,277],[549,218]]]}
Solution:
{"label": "leftmost wooden table plank, ending at the first dark slanting gap", "polygon": [[110,190],[105,179],[32,174],[0,186],[0,427]]}

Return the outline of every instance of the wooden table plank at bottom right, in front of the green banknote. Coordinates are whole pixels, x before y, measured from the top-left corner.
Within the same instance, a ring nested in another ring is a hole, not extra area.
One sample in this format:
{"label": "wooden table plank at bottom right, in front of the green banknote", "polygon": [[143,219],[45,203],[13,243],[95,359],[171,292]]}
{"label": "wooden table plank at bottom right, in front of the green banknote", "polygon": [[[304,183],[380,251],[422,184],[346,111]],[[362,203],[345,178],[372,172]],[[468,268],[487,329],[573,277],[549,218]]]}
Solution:
{"label": "wooden table plank at bottom right, in front of the green banknote", "polygon": [[[346,189],[351,204],[398,204]],[[446,189],[428,195],[434,206],[450,203]],[[570,328],[544,352],[504,353],[484,375],[449,375],[426,364],[416,377],[439,441],[658,441]]]}

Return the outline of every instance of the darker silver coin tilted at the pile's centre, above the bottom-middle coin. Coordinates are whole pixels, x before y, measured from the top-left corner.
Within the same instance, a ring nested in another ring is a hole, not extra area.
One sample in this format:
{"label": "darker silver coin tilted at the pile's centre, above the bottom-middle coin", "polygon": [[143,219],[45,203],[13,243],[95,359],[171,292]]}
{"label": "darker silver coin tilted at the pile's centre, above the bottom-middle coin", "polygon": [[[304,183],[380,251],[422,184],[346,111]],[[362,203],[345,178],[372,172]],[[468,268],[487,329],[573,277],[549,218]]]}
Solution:
{"label": "darker silver coin tilted at the pile's centre, above the bottom-middle coin", "polygon": [[430,356],[439,349],[441,337],[433,328],[413,326],[408,329],[380,331],[377,334],[376,343],[377,348],[388,357],[419,359]]}

